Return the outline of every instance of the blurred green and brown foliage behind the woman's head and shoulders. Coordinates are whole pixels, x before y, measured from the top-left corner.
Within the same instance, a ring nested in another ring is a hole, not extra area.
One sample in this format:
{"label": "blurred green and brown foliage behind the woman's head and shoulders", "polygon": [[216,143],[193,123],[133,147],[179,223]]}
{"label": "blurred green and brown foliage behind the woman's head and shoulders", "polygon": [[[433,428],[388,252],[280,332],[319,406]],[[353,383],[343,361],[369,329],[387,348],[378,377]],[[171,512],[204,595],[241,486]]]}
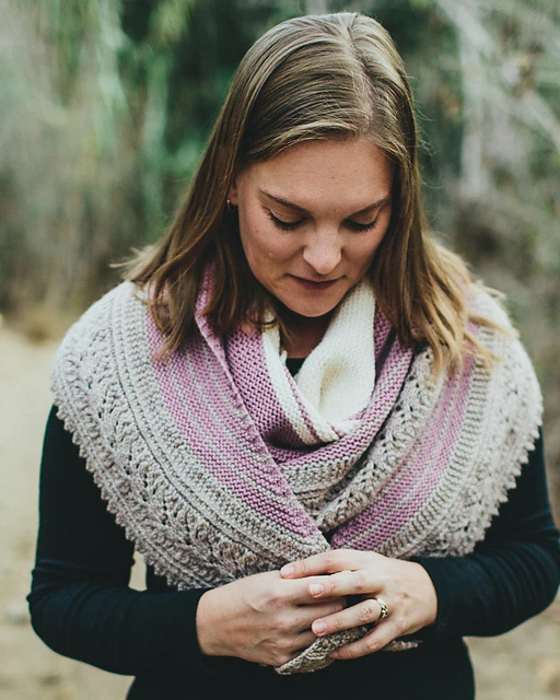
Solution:
{"label": "blurred green and brown foliage behind the woman's head and shoulders", "polygon": [[248,46],[359,10],[412,77],[431,221],[509,295],[560,462],[559,0],[0,0],[0,311],[77,314],[156,240]]}

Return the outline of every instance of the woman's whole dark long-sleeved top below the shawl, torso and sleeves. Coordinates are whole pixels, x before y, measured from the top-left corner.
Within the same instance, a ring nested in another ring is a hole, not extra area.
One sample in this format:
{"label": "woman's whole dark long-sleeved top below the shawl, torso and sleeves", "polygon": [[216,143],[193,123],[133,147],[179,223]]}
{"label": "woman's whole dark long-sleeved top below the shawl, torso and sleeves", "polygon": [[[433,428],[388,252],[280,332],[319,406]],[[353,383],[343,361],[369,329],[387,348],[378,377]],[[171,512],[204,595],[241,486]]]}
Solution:
{"label": "woman's whole dark long-sleeved top below the shawl, torso and sleeves", "polygon": [[40,523],[28,602],[37,634],[60,654],[137,676],[128,698],[474,697],[464,635],[500,634],[547,607],[560,580],[539,438],[485,540],[466,557],[416,558],[438,594],[435,625],[411,651],[340,661],[279,676],[237,658],[202,655],[196,610],[203,590],[176,591],[147,571],[128,587],[133,545],[107,512],[71,435],[50,413],[40,476]]}

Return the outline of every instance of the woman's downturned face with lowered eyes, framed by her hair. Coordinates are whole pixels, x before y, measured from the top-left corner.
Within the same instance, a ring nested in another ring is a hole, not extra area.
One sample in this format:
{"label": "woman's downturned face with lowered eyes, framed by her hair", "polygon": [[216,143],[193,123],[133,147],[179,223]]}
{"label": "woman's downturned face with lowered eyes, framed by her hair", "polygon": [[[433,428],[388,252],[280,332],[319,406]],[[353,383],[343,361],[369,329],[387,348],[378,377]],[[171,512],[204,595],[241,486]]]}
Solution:
{"label": "woman's downturned face with lowered eyes, framed by her hair", "polygon": [[300,143],[241,171],[229,197],[257,280],[296,314],[331,312],[387,231],[393,173],[361,139]]}

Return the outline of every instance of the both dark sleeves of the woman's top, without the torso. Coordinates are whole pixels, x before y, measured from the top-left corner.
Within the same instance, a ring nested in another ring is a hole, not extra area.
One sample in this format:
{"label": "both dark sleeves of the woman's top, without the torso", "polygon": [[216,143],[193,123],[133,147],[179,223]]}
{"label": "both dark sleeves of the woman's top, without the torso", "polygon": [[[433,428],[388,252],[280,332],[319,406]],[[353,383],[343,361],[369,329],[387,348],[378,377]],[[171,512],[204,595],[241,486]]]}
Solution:
{"label": "both dark sleeves of the woman's top, without the torso", "polygon": [[[55,651],[114,673],[214,672],[196,635],[203,591],[128,587],[132,545],[107,512],[70,434],[51,411],[45,436],[37,557],[28,595],[37,634]],[[517,488],[468,557],[417,558],[439,598],[424,639],[495,634],[548,605],[560,548],[548,502],[542,443]]]}

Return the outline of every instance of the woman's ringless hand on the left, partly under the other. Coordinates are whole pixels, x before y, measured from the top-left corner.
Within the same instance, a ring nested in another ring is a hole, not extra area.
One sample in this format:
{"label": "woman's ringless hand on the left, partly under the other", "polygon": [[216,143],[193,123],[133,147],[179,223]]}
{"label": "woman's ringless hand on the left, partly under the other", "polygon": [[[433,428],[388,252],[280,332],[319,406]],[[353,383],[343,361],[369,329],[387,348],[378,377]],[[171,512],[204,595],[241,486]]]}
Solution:
{"label": "woman's ringless hand on the left, partly under the other", "polygon": [[199,600],[196,620],[202,653],[266,666],[294,658],[316,639],[312,622],[346,607],[340,596],[317,603],[308,594],[310,583],[269,571],[208,591]]}

